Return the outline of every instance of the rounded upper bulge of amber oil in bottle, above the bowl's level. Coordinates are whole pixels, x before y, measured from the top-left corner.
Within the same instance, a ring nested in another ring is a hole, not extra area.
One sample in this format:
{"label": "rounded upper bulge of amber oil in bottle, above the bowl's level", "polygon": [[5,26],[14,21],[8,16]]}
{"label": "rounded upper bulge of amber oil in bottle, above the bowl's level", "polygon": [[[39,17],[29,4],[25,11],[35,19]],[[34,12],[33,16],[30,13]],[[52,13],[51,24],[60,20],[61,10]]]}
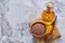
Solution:
{"label": "rounded upper bulge of amber oil in bottle, above the bowl's level", "polygon": [[54,22],[55,15],[54,13],[43,13],[41,19],[43,20],[43,24],[50,25]]}

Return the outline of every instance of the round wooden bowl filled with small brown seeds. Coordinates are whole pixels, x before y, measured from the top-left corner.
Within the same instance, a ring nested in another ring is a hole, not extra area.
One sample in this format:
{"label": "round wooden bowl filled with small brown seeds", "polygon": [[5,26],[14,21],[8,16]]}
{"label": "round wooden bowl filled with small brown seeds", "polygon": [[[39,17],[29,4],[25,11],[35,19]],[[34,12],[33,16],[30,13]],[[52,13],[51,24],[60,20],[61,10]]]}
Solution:
{"label": "round wooden bowl filled with small brown seeds", "polygon": [[34,37],[41,38],[43,37],[47,28],[41,22],[36,22],[30,27],[30,32]]}

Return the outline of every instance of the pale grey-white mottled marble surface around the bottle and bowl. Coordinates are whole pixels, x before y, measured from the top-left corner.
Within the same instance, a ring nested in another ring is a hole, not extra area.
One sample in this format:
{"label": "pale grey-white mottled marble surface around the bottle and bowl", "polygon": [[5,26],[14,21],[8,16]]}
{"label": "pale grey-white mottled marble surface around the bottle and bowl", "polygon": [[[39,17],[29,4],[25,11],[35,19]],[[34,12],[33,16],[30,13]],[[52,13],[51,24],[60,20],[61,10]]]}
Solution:
{"label": "pale grey-white mottled marble surface around the bottle and bowl", "polygon": [[62,34],[55,43],[64,43],[65,0],[0,0],[0,43],[34,43],[28,22],[40,17],[49,1],[54,3],[56,26]]}

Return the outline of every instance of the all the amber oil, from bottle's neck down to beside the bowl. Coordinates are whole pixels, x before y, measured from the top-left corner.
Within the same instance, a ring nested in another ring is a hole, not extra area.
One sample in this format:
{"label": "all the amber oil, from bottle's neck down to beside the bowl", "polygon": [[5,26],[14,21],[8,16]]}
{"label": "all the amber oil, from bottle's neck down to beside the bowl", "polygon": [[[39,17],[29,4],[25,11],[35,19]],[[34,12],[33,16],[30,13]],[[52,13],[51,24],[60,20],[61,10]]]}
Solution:
{"label": "all the amber oil, from bottle's neck down to beside the bowl", "polygon": [[53,12],[49,13],[49,12],[46,11],[46,12],[42,13],[41,20],[43,22],[43,24],[47,27],[46,34],[50,33],[51,30],[53,29],[52,23],[54,22],[54,19],[55,19],[55,14]]}

